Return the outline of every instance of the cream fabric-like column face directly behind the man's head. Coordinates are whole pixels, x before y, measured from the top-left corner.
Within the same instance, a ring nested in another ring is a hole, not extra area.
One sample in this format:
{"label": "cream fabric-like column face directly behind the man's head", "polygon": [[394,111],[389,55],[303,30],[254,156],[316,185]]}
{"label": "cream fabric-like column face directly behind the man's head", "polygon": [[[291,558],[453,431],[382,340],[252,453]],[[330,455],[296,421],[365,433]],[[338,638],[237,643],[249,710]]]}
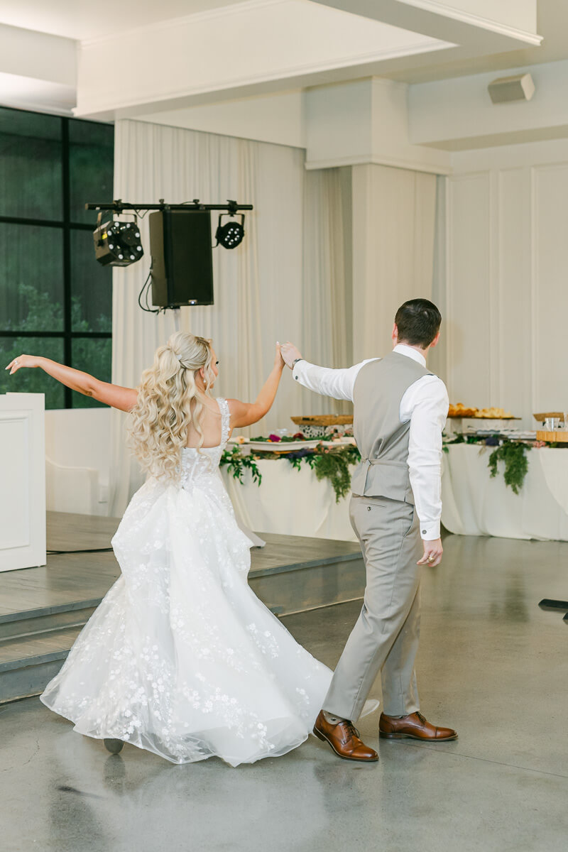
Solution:
{"label": "cream fabric-like column face directly behind the man's head", "polygon": [[432,298],[436,176],[353,166],[353,359],[391,347],[407,299]]}

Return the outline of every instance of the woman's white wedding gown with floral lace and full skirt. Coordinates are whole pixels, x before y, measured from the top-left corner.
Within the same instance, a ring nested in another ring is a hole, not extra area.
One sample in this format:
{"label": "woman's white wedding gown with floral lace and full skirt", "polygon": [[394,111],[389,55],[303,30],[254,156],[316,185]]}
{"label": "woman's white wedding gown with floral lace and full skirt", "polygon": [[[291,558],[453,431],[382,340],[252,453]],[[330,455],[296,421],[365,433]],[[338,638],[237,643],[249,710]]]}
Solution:
{"label": "woman's white wedding gown with floral lace and full skirt", "polygon": [[250,590],[221,444],[182,452],[181,486],[135,493],[112,546],[112,586],[41,699],[75,730],[189,763],[276,757],[313,728],[331,671]]}

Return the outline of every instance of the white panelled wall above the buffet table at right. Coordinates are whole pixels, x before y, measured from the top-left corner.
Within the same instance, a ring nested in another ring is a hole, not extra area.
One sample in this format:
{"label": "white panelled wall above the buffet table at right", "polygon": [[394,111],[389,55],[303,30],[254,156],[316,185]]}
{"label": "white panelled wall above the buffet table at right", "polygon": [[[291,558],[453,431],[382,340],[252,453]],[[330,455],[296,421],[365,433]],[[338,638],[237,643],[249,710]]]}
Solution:
{"label": "white panelled wall above the buffet table at right", "polygon": [[454,155],[447,178],[445,358],[450,400],[568,407],[568,141]]}

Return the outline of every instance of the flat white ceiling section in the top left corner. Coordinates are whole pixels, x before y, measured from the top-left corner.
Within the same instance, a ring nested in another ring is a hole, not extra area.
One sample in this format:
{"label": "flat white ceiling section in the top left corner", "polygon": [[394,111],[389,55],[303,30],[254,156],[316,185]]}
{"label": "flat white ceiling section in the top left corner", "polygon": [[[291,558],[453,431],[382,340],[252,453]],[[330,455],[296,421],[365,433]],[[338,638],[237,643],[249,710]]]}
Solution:
{"label": "flat white ceiling section in the top left corner", "polygon": [[0,0],[0,23],[78,40],[207,12],[244,0]]}

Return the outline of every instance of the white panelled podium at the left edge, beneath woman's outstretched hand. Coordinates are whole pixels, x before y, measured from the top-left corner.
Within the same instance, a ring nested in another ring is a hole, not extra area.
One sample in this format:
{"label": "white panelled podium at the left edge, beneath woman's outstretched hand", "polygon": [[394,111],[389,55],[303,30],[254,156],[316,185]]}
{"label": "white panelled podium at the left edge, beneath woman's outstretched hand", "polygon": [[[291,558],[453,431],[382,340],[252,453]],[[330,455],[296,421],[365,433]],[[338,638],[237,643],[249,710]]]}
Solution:
{"label": "white panelled podium at the left edge, beneath woman's outstretched hand", "polygon": [[45,401],[0,394],[0,571],[46,563]]}

